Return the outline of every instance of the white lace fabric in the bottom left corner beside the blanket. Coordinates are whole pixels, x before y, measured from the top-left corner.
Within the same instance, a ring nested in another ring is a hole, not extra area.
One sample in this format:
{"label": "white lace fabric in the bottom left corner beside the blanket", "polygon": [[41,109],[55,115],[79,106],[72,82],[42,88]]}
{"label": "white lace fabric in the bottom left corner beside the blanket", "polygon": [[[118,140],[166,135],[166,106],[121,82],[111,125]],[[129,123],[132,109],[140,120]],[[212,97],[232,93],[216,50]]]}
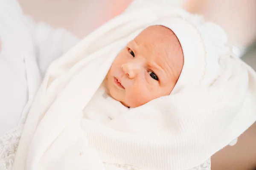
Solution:
{"label": "white lace fabric in the bottom left corner beside the blanket", "polygon": [[0,136],[0,170],[12,169],[22,130],[20,125]]}

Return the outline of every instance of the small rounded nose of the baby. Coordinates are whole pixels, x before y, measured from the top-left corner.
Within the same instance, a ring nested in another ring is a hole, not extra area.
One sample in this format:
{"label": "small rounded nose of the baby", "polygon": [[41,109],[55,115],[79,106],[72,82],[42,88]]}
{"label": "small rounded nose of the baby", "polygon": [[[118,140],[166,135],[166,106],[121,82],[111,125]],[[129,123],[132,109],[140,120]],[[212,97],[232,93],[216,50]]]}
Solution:
{"label": "small rounded nose of the baby", "polygon": [[128,78],[134,79],[140,72],[141,66],[138,63],[125,63],[122,65],[122,69]]}

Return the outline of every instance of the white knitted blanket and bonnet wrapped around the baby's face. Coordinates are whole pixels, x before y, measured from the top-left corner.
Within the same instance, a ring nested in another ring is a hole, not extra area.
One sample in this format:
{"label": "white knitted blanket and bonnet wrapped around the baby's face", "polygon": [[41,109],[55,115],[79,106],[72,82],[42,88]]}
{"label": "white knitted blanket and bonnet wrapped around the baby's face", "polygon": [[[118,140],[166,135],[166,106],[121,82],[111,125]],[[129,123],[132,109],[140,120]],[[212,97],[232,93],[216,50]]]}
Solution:
{"label": "white knitted blanket and bonnet wrapped around the baby's face", "polygon": [[[183,68],[172,93],[125,110],[105,124],[82,119],[119,51],[153,25],[172,30],[183,51]],[[130,8],[49,67],[13,169],[198,166],[256,120],[256,74],[226,43],[221,28],[181,9]]]}

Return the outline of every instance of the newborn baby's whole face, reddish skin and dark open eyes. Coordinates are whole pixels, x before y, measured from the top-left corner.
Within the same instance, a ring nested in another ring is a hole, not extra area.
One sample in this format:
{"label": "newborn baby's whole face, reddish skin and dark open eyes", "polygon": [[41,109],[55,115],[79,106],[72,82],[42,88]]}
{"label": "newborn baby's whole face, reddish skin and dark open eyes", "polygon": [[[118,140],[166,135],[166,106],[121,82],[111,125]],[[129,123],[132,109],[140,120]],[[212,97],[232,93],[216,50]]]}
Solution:
{"label": "newborn baby's whole face, reddish skin and dark open eyes", "polygon": [[131,108],[169,95],[183,67],[183,52],[175,34],[150,26],[117,55],[107,74],[110,96]]}

